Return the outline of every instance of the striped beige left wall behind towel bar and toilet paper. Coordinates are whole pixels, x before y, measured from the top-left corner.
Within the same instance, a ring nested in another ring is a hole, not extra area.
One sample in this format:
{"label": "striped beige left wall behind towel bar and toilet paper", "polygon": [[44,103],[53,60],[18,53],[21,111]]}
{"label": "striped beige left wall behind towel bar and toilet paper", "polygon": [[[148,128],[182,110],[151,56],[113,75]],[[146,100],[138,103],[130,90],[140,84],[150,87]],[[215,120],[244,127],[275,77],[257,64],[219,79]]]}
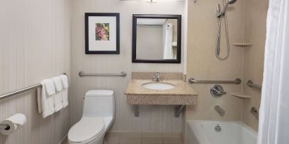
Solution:
{"label": "striped beige left wall behind towel bar and toilet paper", "polygon": [[[63,72],[70,77],[70,2],[0,1],[0,95]],[[18,112],[27,124],[1,144],[51,144],[66,136],[68,108],[43,119],[36,91],[0,100],[0,121]]]}

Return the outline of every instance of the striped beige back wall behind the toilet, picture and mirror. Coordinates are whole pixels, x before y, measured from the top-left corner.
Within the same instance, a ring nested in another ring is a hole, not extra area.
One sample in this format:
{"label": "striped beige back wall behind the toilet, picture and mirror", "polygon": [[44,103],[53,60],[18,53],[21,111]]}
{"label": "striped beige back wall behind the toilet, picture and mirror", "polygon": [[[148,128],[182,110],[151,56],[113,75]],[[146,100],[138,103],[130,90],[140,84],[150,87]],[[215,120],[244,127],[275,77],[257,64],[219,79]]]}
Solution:
{"label": "striped beige back wall behind the toilet, picture and mirror", "polygon": [[[120,13],[121,54],[85,55],[84,13]],[[183,72],[182,64],[131,63],[133,14],[185,13],[184,1],[146,3],[118,0],[74,0],[72,21],[72,89],[70,93],[71,124],[78,122],[82,114],[82,97],[90,89],[111,89],[116,94],[116,119],[112,131],[181,131],[181,118],[174,117],[173,106],[142,106],[140,117],[135,117],[128,105],[124,91],[131,72]],[[183,18],[184,20],[184,18]],[[78,77],[78,72],[128,72],[123,77]]]}

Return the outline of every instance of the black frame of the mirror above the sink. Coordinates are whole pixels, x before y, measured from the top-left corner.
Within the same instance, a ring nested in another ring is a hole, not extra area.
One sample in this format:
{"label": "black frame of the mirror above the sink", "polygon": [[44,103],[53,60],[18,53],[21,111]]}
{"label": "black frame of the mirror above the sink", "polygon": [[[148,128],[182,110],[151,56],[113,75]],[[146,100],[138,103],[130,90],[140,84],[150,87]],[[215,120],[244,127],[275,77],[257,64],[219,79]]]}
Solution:
{"label": "black frame of the mirror above the sink", "polygon": [[[178,34],[177,34],[177,58],[172,59],[159,59],[159,60],[146,60],[137,59],[137,18],[164,18],[178,20]],[[181,34],[182,34],[182,15],[154,15],[154,14],[133,14],[133,63],[181,63]]]}

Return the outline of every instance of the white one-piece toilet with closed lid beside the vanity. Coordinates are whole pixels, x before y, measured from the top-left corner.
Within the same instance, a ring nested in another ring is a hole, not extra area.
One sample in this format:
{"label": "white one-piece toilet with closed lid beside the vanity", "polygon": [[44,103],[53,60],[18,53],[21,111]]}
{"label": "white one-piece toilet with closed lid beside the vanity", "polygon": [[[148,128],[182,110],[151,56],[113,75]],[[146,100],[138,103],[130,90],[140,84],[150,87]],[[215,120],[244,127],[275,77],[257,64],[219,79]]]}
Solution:
{"label": "white one-piece toilet with closed lid beside the vanity", "polygon": [[69,144],[103,144],[104,135],[114,120],[113,91],[91,90],[85,93],[80,121],[68,132]]}

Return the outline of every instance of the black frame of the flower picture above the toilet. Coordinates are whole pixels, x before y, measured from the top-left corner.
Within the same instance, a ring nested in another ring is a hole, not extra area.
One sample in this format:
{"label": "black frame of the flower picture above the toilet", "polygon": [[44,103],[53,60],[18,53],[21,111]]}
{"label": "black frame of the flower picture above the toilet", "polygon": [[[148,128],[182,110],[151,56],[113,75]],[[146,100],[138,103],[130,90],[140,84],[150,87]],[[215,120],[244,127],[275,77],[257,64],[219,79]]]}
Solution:
{"label": "black frame of the flower picture above the toilet", "polygon": [[[119,13],[85,13],[85,54],[119,54],[120,53],[120,18]],[[90,17],[116,17],[116,51],[91,51],[89,41]]]}

